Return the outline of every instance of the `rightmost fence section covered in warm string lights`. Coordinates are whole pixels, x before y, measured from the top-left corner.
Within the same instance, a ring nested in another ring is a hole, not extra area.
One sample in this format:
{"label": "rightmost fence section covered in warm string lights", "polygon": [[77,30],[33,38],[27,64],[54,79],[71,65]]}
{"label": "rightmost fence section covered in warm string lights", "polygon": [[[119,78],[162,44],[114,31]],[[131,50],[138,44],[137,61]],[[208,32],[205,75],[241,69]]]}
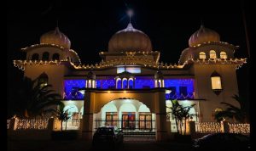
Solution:
{"label": "rightmost fence section covered in warm string lights", "polygon": [[230,133],[242,133],[242,134],[250,133],[250,124],[228,123],[228,125],[229,125]]}

